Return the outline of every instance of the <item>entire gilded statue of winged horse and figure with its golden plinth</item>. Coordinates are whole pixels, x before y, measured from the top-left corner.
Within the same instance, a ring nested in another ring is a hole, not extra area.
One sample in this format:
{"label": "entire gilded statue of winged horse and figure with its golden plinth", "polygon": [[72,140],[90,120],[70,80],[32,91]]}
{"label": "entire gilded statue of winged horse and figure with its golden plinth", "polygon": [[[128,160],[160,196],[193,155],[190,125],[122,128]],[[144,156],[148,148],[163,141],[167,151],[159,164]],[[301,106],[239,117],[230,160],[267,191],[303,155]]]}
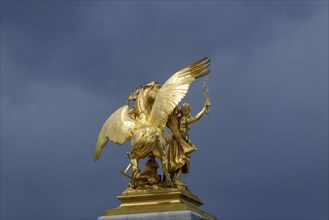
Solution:
{"label": "entire gilded statue of winged horse and figure with its golden plinth", "polygon": [[[146,206],[151,210],[150,207],[162,204],[161,201],[167,204],[168,198],[173,198],[174,194],[178,196],[177,198],[184,197],[179,199],[178,203],[189,207],[186,209],[192,210],[202,204],[189,192],[180,175],[188,172],[189,155],[196,150],[196,146],[188,137],[189,126],[208,113],[210,101],[205,99],[201,112],[194,117],[190,115],[189,104],[184,103],[181,109],[178,104],[186,96],[192,82],[210,72],[209,66],[210,60],[203,58],[176,72],[162,86],[152,81],[134,89],[128,97],[127,104],[116,110],[105,121],[97,139],[94,162],[99,159],[108,141],[123,144],[131,140],[128,153],[130,163],[125,171],[120,170],[130,178],[127,190],[118,197],[123,204],[120,208],[105,213],[110,215],[121,213],[122,210],[132,212],[131,208],[124,209],[126,206],[139,207],[134,209],[134,212],[141,212],[140,210],[145,209]],[[134,102],[132,107],[130,107],[131,102]],[[167,127],[173,135],[167,133]],[[138,162],[146,157],[148,160],[142,171]],[[155,158],[161,161],[163,177],[157,173],[159,165]],[[130,167],[132,167],[131,176],[128,175]],[[166,194],[159,196],[159,193]],[[144,196],[142,203],[144,208],[140,206],[140,196]],[[136,199],[135,205],[134,199]],[[172,200],[171,203],[175,204],[177,201]],[[181,201],[185,201],[184,204]],[[179,205],[176,205],[175,209],[183,207]],[[155,210],[160,209],[166,210],[163,206],[161,208],[157,206]],[[200,210],[197,211],[200,213]]]}

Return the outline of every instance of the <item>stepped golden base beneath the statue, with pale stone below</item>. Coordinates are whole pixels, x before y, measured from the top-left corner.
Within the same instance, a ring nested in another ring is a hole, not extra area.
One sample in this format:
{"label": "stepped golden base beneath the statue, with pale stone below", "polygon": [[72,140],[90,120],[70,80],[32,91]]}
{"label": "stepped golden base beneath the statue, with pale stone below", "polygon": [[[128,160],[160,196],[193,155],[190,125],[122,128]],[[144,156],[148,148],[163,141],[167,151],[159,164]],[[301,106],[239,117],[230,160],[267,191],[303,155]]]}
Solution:
{"label": "stepped golden base beneath the statue, with pale stone below", "polygon": [[129,219],[134,219],[135,214],[136,219],[216,219],[215,216],[199,208],[203,203],[198,197],[190,191],[177,188],[156,187],[143,190],[128,188],[117,198],[121,201],[121,205],[105,210],[98,220],[127,219],[127,215]]}

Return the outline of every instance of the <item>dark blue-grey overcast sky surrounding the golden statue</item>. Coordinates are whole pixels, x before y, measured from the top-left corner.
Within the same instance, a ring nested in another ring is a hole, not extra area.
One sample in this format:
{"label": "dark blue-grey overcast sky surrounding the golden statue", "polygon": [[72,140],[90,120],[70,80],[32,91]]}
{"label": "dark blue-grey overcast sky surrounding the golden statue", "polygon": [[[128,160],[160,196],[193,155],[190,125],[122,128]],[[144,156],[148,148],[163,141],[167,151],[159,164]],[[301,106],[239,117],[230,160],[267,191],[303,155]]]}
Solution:
{"label": "dark blue-grey overcast sky surrounding the golden statue", "polygon": [[[1,1],[1,219],[96,219],[129,144],[92,163],[128,93],[209,57],[184,175],[220,219],[328,218],[327,1]],[[185,101],[197,113],[202,80]]]}

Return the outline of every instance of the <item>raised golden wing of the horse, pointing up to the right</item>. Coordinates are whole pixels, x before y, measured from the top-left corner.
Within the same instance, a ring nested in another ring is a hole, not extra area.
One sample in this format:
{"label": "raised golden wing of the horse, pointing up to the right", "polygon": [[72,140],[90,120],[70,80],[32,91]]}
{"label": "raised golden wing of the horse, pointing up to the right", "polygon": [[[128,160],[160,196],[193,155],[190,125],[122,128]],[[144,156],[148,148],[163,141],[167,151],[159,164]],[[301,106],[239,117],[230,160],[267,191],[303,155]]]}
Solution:
{"label": "raised golden wing of the horse, pointing up to the right", "polygon": [[158,91],[148,118],[154,126],[165,128],[169,115],[185,97],[191,83],[210,72],[210,60],[205,57],[172,75]]}

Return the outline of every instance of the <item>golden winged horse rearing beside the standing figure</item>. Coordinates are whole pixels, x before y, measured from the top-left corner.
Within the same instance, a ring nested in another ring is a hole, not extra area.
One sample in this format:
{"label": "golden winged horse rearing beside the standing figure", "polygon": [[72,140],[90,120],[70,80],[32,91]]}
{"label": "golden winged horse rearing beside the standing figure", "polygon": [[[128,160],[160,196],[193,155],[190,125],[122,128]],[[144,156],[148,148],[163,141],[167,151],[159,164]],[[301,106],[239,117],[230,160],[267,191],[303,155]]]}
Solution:
{"label": "golden winged horse rearing beside the standing figure", "polygon": [[170,135],[165,128],[169,116],[185,97],[192,82],[210,72],[210,60],[203,58],[172,75],[162,86],[150,82],[136,94],[135,105],[127,105],[116,110],[104,123],[96,143],[94,162],[110,140],[123,144],[131,139],[129,159],[133,174],[130,186],[135,188],[135,178],[139,172],[138,161],[153,155],[160,159],[168,186],[168,146]]}

